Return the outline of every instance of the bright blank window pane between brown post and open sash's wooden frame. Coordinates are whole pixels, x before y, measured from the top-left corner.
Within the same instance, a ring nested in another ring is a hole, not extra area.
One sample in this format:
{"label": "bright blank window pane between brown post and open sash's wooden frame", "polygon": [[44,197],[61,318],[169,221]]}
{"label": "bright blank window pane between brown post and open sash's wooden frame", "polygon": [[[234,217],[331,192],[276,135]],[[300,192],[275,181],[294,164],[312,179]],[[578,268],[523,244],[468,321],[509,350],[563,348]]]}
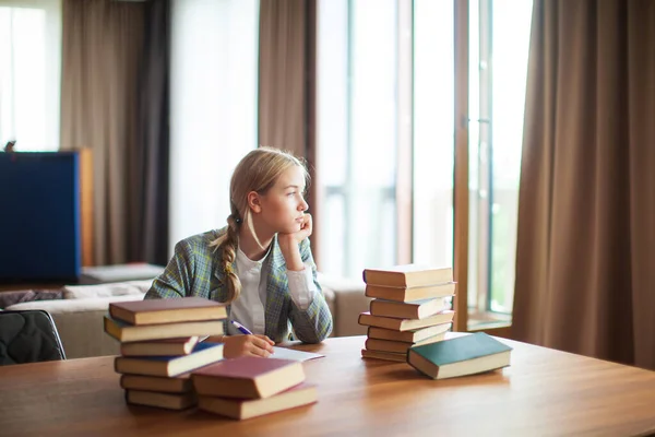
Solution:
{"label": "bright blank window pane between brown post and open sash's wooden frame", "polygon": [[414,1],[414,261],[453,264],[453,2]]}

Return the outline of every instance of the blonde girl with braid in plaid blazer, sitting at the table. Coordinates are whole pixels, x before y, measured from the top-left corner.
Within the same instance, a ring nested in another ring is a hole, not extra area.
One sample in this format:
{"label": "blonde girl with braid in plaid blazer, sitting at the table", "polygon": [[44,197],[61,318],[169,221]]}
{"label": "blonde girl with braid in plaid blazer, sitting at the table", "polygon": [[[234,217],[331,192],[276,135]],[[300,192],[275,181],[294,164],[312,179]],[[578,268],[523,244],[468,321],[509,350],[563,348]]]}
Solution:
{"label": "blonde girl with braid in plaid blazer, sitting at the table", "polygon": [[309,246],[308,174],[293,155],[272,147],[248,153],[230,181],[227,226],[179,241],[145,298],[201,296],[228,304],[224,355],[266,357],[289,335],[319,343],[332,315],[317,282]]}

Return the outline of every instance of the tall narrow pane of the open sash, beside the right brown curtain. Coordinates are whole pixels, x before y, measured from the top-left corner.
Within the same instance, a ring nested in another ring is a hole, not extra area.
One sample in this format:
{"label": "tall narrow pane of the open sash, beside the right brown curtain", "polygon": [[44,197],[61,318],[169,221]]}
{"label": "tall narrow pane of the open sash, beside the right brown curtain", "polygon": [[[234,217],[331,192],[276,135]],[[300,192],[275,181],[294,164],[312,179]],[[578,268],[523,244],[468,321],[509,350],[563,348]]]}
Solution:
{"label": "tall narrow pane of the open sash, beside the right brown curtain", "polygon": [[510,312],[514,296],[519,177],[532,1],[493,0],[491,296],[490,309]]}

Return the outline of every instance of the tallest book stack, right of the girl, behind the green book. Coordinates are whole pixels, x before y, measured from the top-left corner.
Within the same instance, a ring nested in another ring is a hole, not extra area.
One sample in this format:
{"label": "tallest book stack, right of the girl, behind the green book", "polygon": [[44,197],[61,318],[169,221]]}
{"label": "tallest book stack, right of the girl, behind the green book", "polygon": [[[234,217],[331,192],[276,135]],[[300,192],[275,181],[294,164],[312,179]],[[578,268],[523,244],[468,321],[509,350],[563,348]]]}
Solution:
{"label": "tallest book stack, right of the girl, behind the green book", "polygon": [[373,297],[370,310],[359,315],[368,328],[361,356],[406,362],[409,347],[443,340],[455,312],[451,268],[417,264],[364,271],[366,295]]}

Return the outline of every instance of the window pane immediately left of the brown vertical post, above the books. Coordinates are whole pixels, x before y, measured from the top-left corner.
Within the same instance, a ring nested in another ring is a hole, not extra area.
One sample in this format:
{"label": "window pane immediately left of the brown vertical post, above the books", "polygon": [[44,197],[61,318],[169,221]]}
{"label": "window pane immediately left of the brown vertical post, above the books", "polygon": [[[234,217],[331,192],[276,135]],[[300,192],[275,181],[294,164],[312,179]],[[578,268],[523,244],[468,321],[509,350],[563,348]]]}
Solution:
{"label": "window pane immediately left of the brown vertical post, above the books", "polygon": [[393,264],[396,258],[397,8],[396,0],[350,3],[352,197],[347,223],[353,232],[346,275],[361,277],[365,268]]}

